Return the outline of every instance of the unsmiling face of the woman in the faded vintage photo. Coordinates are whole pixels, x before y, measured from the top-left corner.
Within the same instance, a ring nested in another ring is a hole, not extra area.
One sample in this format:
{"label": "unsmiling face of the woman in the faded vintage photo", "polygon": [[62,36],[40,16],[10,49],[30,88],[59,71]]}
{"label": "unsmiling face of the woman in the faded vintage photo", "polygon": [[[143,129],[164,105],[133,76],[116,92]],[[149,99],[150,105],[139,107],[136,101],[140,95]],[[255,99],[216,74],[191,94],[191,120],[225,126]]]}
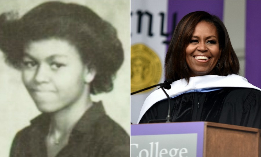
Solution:
{"label": "unsmiling face of the woman in the faded vintage photo", "polygon": [[23,83],[41,112],[57,112],[86,99],[87,73],[77,49],[66,40],[34,41],[25,49]]}

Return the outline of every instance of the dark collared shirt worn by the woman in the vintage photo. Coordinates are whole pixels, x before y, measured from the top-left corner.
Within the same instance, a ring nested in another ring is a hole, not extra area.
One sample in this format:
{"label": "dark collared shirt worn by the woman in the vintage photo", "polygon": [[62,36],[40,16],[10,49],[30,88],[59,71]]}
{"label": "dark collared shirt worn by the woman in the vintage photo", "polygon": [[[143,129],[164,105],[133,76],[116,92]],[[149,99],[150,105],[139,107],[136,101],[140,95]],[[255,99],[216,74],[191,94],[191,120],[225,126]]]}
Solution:
{"label": "dark collared shirt worn by the woman in the vintage photo", "polygon": [[[10,157],[47,157],[45,138],[50,116],[42,114],[17,133]],[[76,124],[68,144],[56,157],[129,157],[130,137],[105,114],[102,103],[89,108]]]}

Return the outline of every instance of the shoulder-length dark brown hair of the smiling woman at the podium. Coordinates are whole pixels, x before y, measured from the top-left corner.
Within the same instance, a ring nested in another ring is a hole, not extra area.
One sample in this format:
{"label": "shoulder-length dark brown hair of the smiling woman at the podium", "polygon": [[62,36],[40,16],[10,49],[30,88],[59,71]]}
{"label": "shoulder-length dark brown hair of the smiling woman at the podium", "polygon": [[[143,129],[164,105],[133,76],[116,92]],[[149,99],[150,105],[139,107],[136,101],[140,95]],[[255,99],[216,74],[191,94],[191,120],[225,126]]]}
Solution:
{"label": "shoulder-length dark brown hair of the smiling woman at the podium", "polygon": [[219,45],[221,51],[220,65],[214,67],[211,74],[227,76],[238,74],[239,61],[231,45],[229,34],[223,22],[215,15],[210,15],[204,11],[196,11],[184,16],[177,24],[165,58],[165,77],[166,79],[186,79],[189,82],[190,71],[186,63],[186,47],[188,46],[195,26],[206,21],[217,28]]}

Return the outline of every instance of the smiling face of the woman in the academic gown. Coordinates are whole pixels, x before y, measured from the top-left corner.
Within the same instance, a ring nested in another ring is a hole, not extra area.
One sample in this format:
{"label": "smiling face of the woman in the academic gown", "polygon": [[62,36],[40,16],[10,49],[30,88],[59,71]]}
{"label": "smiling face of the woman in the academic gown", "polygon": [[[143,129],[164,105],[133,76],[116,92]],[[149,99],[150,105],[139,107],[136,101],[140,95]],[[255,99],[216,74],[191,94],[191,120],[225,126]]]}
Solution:
{"label": "smiling face of the woman in the academic gown", "polygon": [[220,54],[216,27],[208,22],[199,22],[186,48],[190,77],[210,74],[217,65]]}

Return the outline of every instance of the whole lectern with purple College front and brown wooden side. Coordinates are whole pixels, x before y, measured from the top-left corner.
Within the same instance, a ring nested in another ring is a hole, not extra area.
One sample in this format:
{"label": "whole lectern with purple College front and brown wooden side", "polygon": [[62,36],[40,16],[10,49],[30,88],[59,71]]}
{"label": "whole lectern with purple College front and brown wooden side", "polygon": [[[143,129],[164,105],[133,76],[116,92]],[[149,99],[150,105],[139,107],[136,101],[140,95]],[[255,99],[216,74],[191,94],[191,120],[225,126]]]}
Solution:
{"label": "whole lectern with purple College front and brown wooden side", "polygon": [[261,157],[260,133],[213,122],[133,124],[131,157]]}

